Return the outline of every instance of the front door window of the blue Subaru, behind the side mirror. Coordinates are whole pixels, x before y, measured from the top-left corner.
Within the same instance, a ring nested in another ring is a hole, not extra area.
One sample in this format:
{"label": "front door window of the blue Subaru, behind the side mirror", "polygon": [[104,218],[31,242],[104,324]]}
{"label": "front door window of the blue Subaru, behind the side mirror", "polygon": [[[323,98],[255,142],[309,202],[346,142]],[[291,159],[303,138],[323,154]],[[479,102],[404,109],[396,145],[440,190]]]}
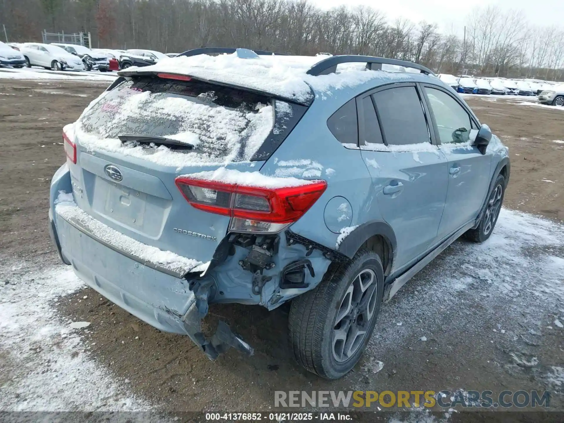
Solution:
{"label": "front door window of the blue Subaru, behind the side mirror", "polygon": [[425,87],[429,105],[437,122],[441,144],[468,141],[472,121],[464,108],[446,92]]}

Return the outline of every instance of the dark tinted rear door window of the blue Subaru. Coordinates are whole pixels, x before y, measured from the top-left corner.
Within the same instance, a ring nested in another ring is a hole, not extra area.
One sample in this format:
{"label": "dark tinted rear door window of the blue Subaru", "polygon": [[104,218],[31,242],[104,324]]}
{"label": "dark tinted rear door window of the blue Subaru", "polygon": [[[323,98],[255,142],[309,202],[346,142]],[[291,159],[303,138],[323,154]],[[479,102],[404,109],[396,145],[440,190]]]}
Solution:
{"label": "dark tinted rear door window of the blue Subaru", "polygon": [[430,142],[429,129],[415,87],[397,87],[373,95],[387,144]]}

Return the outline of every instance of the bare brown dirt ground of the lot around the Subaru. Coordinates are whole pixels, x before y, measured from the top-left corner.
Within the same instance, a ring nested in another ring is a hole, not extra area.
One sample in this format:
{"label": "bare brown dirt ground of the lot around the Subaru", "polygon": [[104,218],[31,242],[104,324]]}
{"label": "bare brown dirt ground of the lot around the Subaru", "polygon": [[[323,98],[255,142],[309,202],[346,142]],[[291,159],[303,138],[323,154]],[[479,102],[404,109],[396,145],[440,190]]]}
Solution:
{"label": "bare brown dirt ground of the lot around the Subaru", "polygon": [[[76,120],[104,89],[104,84],[86,82],[0,82],[0,258],[29,261],[43,256],[53,265],[57,262],[47,232],[47,209],[49,180],[65,160],[61,129]],[[564,111],[513,104],[522,99],[465,100],[510,148],[512,169],[505,207],[564,221],[564,143],[554,142],[564,140]],[[437,266],[442,266],[444,257],[437,260]],[[432,279],[431,271],[424,270],[421,280]],[[408,289],[406,295],[416,297],[417,290]],[[393,309],[398,304],[402,306],[397,309],[407,313],[406,301],[398,299],[384,306],[382,314],[398,313]],[[430,345],[404,342],[401,349],[385,345],[377,350],[386,357],[383,371],[372,372],[373,363],[363,359],[354,373],[331,382],[307,373],[290,359],[287,307],[268,312],[261,307],[211,306],[206,324],[215,326],[221,318],[255,347],[252,359],[231,351],[217,362],[205,358],[188,338],[156,331],[94,290],[85,288],[59,307],[64,315],[90,321],[96,328],[85,335],[93,356],[117,378],[127,379],[135,393],[168,411],[268,411],[275,390],[379,391],[382,386],[410,390],[413,386],[469,385],[517,390],[523,384],[540,389],[531,373],[492,370],[484,365],[484,356],[501,361],[500,356],[507,354],[485,335],[495,328],[496,310],[482,310],[480,302],[472,298],[466,301],[482,314],[479,323],[464,313],[445,311],[443,324],[429,329]],[[384,318],[382,325],[393,327],[391,319]],[[514,325],[518,327],[517,322]],[[564,363],[562,337],[543,335],[543,356],[548,362]],[[456,415],[452,418],[466,421]],[[478,413],[474,418],[480,420]],[[558,418],[545,415],[530,421]]]}

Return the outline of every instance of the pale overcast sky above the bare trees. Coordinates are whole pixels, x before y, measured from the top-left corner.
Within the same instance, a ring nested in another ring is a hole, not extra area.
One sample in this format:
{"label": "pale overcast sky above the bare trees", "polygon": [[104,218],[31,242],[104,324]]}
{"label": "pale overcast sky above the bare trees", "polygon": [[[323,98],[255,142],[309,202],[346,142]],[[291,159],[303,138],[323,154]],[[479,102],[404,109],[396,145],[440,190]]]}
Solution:
{"label": "pale overcast sky above the bare trees", "polygon": [[558,25],[564,28],[564,0],[312,0],[320,8],[327,9],[346,4],[367,5],[381,10],[390,20],[406,17],[414,22],[426,20],[439,24],[443,32],[462,34],[464,15],[473,7],[497,5],[504,10],[522,10],[534,25]]}

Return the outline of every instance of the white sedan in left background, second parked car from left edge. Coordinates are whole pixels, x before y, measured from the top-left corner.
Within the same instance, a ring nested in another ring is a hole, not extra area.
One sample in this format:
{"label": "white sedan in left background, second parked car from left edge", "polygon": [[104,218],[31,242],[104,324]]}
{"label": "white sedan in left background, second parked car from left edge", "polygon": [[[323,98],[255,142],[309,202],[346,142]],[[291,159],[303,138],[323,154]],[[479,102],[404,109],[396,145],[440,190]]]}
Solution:
{"label": "white sedan in left background, second parked car from left edge", "polygon": [[28,68],[42,66],[53,70],[85,70],[80,57],[52,44],[24,43],[20,52]]}

